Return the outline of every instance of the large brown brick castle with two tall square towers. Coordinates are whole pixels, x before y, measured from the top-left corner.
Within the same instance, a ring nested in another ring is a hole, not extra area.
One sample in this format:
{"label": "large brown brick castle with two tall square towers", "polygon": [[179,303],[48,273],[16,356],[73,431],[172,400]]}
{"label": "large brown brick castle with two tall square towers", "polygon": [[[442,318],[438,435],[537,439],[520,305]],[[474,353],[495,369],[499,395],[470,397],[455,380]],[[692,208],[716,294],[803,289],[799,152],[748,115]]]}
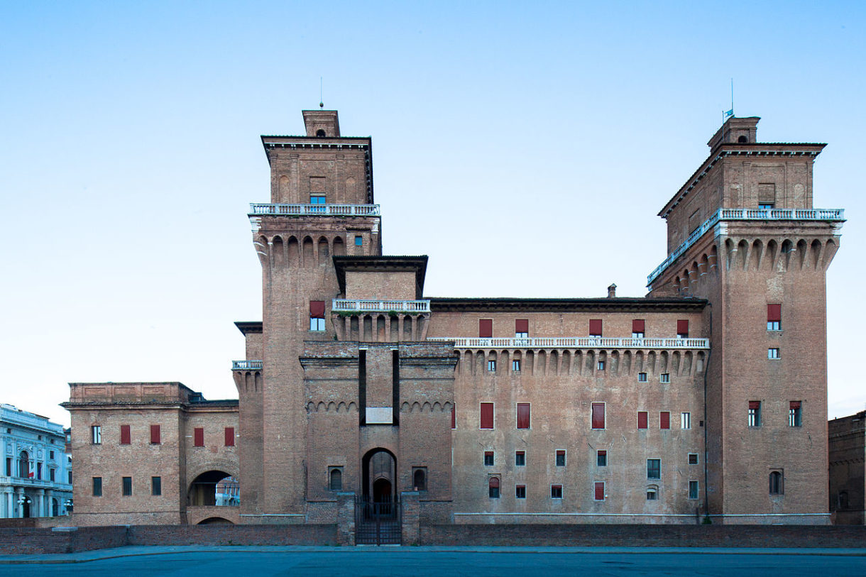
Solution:
{"label": "large brown brick castle with two tall square towers", "polygon": [[645,297],[433,298],[426,256],[382,255],[371,139],[303,116],[262,137],[239,399],[72,384],[78,522],[334,522],[346,493],[359,522],[404,496],[425,523],[830,521],[823,144],[728,119]]}

